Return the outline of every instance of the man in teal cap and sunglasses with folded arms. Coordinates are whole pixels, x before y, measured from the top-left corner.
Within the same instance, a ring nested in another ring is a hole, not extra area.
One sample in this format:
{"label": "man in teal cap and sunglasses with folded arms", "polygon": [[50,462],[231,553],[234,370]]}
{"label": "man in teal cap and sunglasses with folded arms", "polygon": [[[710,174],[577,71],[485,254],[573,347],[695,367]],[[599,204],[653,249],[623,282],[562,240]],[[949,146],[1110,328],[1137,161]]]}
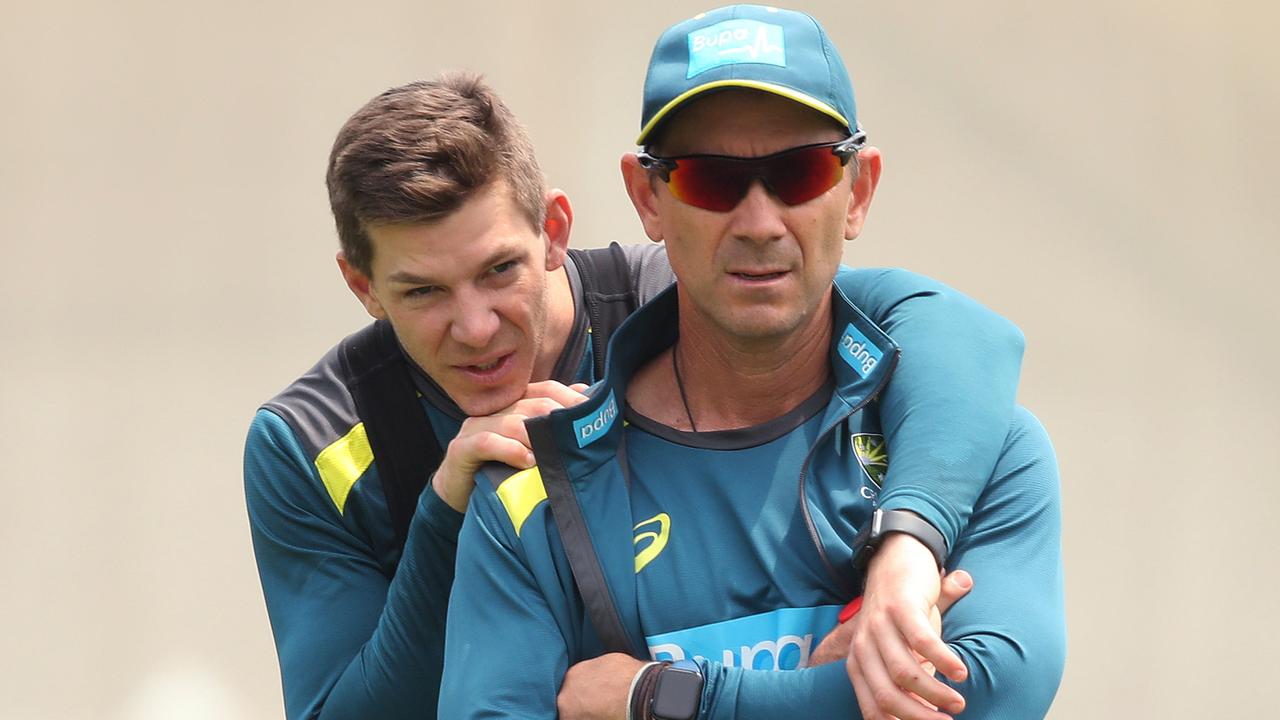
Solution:
{"label": "man in teal cap and sunglasses with folded arms", "polygon": [[[840,269],[881,155],[820,26],[736,5],[669,28],[641,126],[623,179],[677,284],[617,332],[586,401],[526,421],[535,468],[477,475],[440,715],[1042,717],[1065,652],[1053,452],[1018,409],[978,482],[877,492],[913,461],[869,445],[910,348]],[[973,577],[942,619],[960,667],[933,679],[904,638],[815,664],[902,542]]]}

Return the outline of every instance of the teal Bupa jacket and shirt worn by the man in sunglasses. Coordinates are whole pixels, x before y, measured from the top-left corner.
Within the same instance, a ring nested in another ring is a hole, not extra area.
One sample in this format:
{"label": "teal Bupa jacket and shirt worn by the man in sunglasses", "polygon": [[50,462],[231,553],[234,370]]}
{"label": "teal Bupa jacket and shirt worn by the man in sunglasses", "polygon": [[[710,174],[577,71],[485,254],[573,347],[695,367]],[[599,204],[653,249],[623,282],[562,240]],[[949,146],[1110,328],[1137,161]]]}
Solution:
{"label": "teal Bupa jacket and shirt worn by the man in sunglasses", "polygon": [[[858,295],[864,277],[837,286]],[[899,477],[886,418],[910,347],[895,369],[893,341],[845,292],[835,299],[831,383],[778,419],[682,433],[628,413],[627,380],[676,340],[669,291],[614,336],[591,400],[541,420],[556,447],[539,448],[538,468],[484,471],[460,538],[440,717],[554,717],[567,667],[603,652],[545,502],[548,473],[572,484],[632,643],[701,666],[700,717],[860,717],[844,664],[803,665],[860,588],[852,539]],[[1057,468],[1030,414],[1004,421],[948,559],[975,587],[943,635],[970,670],[957,685],[965,716],[1025,720],[1047,712],[1065,655]]]}

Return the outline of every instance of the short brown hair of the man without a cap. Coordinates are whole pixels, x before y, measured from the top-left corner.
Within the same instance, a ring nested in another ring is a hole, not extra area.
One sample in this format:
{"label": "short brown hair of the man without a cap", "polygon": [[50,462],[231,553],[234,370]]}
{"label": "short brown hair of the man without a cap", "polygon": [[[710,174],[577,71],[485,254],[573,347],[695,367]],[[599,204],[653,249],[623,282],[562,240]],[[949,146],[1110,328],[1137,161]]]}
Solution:
{"label": "short brown hair of the man without a cap", "polygon": [[347,120],[325,182],[347,261],[371,273],[371,224],[429,223],[504,179],[534,228],[547,214],[547,181],[529,135],[475,73],[393,87]]}

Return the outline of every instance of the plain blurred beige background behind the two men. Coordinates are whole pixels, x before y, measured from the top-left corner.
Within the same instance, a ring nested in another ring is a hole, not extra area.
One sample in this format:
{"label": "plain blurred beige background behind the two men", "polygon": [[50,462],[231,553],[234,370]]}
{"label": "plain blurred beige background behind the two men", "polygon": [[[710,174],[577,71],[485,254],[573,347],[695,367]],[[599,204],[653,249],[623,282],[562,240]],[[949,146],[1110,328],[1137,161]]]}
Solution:
{"label": "plain blurred beige background behind the two men", "polygon": [[[333,261],[338,127],[392,85],[483,70],[573,200],[573,242],[640,242],[617,160],[653,41],[703,9],[4,5],[0,717],[283,715],[241,447],[365,322]],[[1274,712],[1276,5],[801,9],[886,158],[846,260],[1027,333],[1021,398],[1065,495],[1051,717]]]}

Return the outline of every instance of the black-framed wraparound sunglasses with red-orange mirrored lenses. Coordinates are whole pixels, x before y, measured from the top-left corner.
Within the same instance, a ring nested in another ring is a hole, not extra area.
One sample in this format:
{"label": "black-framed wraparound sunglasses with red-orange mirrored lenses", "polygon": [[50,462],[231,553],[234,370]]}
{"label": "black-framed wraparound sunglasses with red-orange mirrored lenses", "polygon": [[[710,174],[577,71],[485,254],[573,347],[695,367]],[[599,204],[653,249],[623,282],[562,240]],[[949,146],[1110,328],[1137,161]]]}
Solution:
{"label": "black-framed wraparound sunglasses with red-orange mirrored lenses", "polygon": [[637,152],[640,167],[667,183],[676,200],[703,210],[727,213],[759,179],[787,205],[799,205],[827,192],[845,176],[849,159],[867,142],[856,133],[836,142],[801,145],[760,158],[732,155],[676,155],[658,158]]}

